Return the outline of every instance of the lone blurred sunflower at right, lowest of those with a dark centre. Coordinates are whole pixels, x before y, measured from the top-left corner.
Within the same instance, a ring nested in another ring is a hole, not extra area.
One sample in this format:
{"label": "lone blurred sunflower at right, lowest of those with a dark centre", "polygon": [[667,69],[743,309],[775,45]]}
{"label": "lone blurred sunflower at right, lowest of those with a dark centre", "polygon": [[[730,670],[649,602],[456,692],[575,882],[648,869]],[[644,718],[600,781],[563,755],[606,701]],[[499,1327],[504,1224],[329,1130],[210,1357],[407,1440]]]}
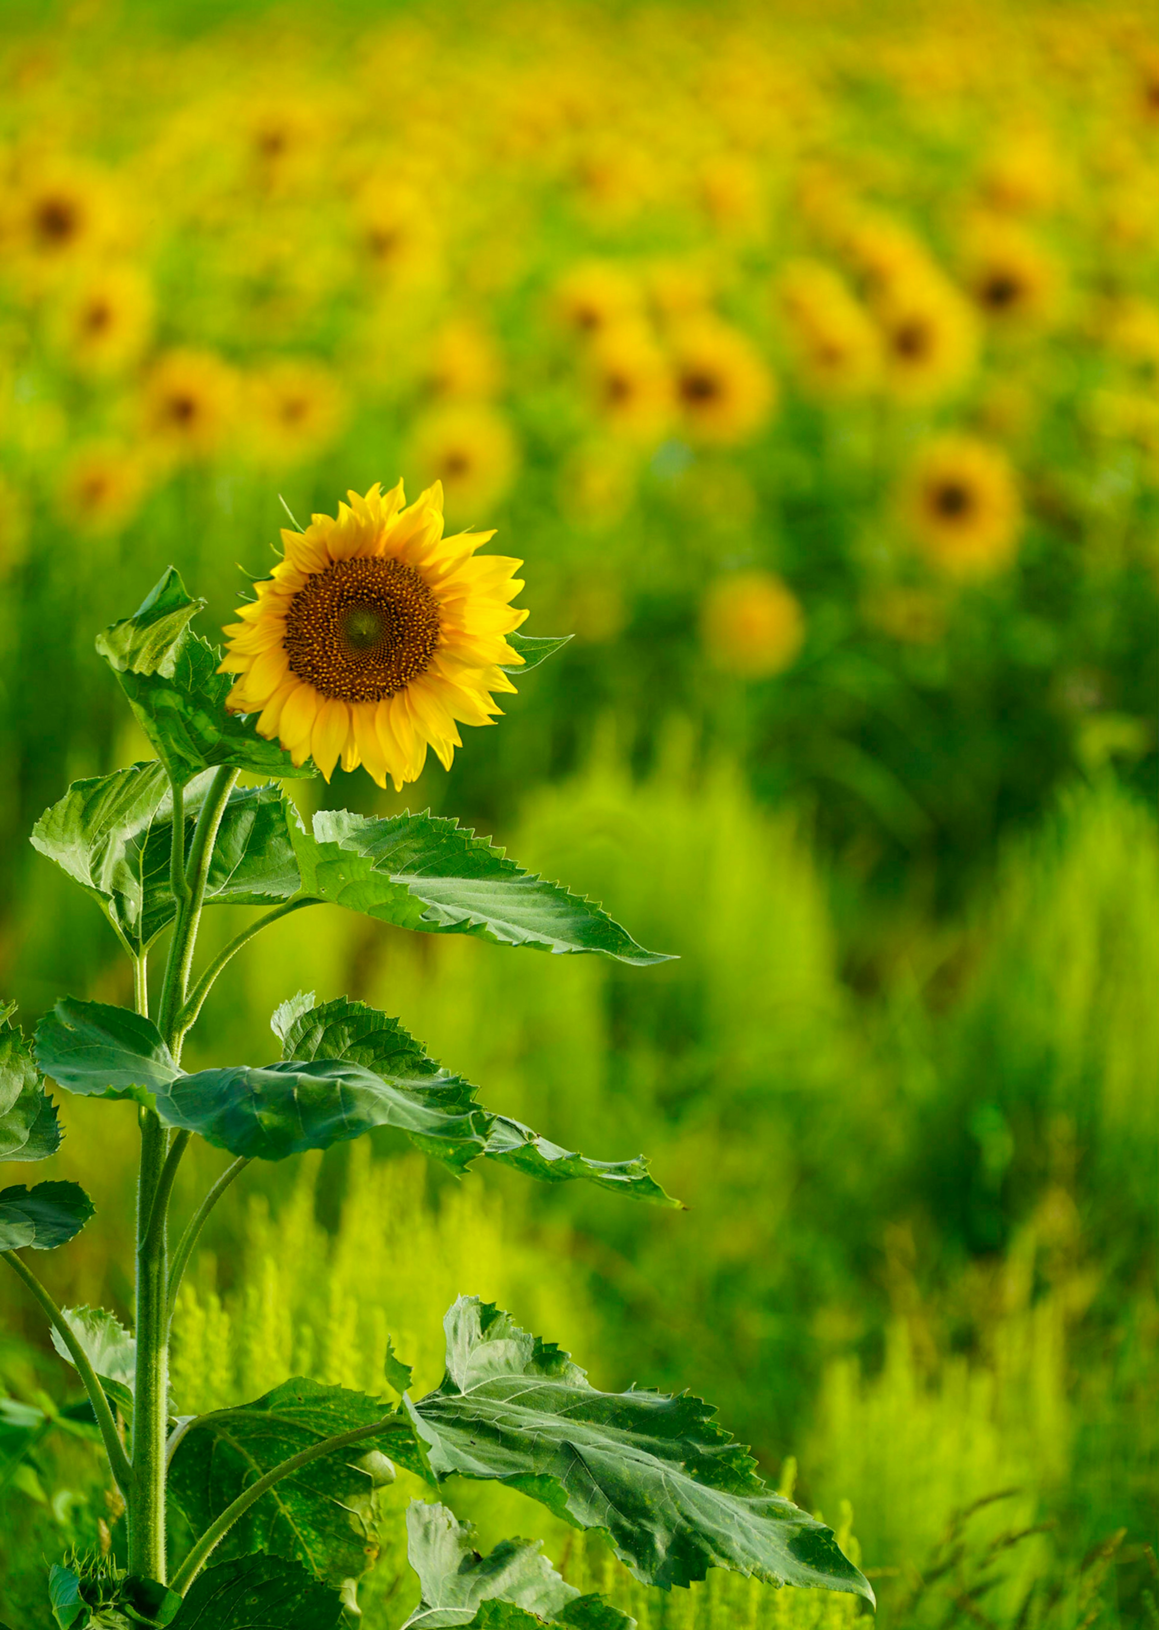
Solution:
{"label": "lone blurred sunflower at right, lowest of those with a dark centre", "polygon": [[1001,570],[1017,549],[1022,507],[1004,453],[967,435],[929,442],[901,492],[903,515],[931,566],[952,577]]}

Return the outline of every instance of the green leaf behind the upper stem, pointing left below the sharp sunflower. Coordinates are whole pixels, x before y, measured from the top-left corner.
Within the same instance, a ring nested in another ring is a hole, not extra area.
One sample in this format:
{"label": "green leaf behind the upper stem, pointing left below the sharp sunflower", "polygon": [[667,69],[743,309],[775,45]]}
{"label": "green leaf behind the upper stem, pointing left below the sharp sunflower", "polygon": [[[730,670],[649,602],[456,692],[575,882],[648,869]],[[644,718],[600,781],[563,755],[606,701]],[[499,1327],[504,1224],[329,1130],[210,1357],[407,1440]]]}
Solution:
{"label": "green leaf behind the upper stem, pointing left below the sharp sunflower", "polygon": [[[186,787],[186,849],[214,771]],[[170,888],[173,794],[158,763],[75,781],[33,828],[33,844],[106,913],[130,955],[174,916]],[[275,905],[298,888],[280,787],[235,787],[222,815],[205,882],[207,905]]]}

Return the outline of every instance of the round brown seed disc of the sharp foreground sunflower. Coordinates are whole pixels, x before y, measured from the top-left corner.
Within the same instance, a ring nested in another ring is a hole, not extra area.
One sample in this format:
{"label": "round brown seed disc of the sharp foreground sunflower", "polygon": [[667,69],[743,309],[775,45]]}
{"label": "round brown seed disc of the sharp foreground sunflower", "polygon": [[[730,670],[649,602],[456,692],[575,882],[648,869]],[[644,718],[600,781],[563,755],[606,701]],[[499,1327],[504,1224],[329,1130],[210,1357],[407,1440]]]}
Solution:
{"label": "round brown seed disc of the sharp foreground sunflower", "polygon": [[285,616],[290,670],[323,696],[377,703],[425,673],[438,606],[403,561],[336,561],[313,572]]}

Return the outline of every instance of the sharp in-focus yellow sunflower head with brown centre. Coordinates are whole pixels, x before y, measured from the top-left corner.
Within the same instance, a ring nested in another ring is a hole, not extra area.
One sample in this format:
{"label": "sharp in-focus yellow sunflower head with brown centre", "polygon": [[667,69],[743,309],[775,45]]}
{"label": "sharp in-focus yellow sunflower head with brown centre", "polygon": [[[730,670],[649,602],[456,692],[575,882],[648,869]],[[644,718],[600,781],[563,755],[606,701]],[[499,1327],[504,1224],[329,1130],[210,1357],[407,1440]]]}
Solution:
{"label": "sharp in-focus yellow sunflower head with brown centre", "polygon": [[227,628],[228,706],[258,714],[295,764],[313,755],[329,781],[365,764],[380,787],[417,781],[432,747],[450,769],[460,724],[491,724],[499,663],[523,659],[504,636],[527,616],[510,601],[522,561],[474,559],[494,533],[443,538],[435,482],[404,509],[403,482],[347,494],[337,518],[284,531],[285,554]]}

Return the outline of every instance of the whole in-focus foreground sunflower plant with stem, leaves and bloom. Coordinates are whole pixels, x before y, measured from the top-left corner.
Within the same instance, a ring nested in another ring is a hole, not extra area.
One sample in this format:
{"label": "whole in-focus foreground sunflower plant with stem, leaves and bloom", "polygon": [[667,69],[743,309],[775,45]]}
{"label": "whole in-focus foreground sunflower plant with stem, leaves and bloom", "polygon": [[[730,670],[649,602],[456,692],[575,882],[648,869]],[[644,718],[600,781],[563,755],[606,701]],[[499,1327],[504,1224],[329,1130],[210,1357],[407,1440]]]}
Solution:
{"label": "whole in-focus foreground sunflower plant with stem, leaves and bloom", "polygon": [[[647,1162],[598,1161],[484,1108],[396,1017],[360,1001],[292,996],[264,1064],[183,1068],[183,1045],[230,958],[279,918],[334,905],[421,934],[595,952],[647,967],[600,906],[536,877],[453,820],[324,810],[305,823],[282,782],[341,763],[396,787],[432,747],[443,764],[458,724],[489,724],[494,694],[564,644],[518,632],[520,562],[478,554],[491,536],[445,536],[437,487],[406,507],[350,494],[337,517],[284,533],[284,553],[228,628],[222,654],[192,631],[204,601],[170,569],[140,608],[98,639],[156,758],[78,781],[33,831],[34,846],[104,911],[134,970],[134,1006],[64,998],[34,1040],[0,1024],[0,1154],[60,1146],[59,1087],[137,1107],[134,1328],[104,1309],[59,1307],[28,1255],[67,1244],[93,1216],[73,1182],[0,1192],[0,1249],[77,1369],[124,1508],[109,1555],[49,1578],[62,1630],[329,1630],[357,1612],[373,1563],[378,1490],[404,1467],[437,1491],[453,1477],[518,1488],[580,1529],[602,1529],[642,1581],[670,1588],[709,1566],[799,1586],[869,1584],[833,1532],[765,1487],[748,1454],[690,1395],[600,1392],[567,1353],[500,1309],[460,1296],[445,1319],[447,1371],[414,1397],[388,1348],[383,1397],[295,1376],[264,1397],[186,1415],[170,1389],[178,1291],[201,1229],[253,1161],[328,1149],[399,1128],[461,1174],[474,1159],[540,1182],[588,1182],[676,1205]],[[240,778],[267,778],[241,784]],[[202,913],[262,908],[204,963]],[[148,958],[168,936],[163,973]],[[192,1138],[230,1156],[171,1234],[170,1201]],[[626,1630],[580,1596],[538,1545],[487,1557],[435,1500],[408,1514],[421,1604],[409,1625]]]}

